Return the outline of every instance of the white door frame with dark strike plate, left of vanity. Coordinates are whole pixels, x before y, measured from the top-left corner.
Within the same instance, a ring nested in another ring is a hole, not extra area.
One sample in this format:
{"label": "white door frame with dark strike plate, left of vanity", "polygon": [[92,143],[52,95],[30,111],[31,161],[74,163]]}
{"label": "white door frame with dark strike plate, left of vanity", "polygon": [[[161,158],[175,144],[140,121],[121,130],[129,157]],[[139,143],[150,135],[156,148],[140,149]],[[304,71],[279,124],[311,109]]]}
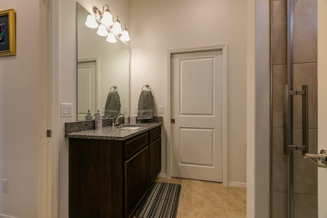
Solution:
{"label": "white door frame with dark strike plate, left of vanity", "polygon": [[[39,167],[40,188],[38,199],[38,217],[58,217],[58,163],[59,163],[59,137],[58,137],[58,99],[59,99],[59,1],[49,0],[47,3],[48,15],[48,59],[46,91],[46,129],[52,130],[52,136],[46,138],[46,144],[41,145],[41,165]],[[45,131],[44,133],[45,134]]]}

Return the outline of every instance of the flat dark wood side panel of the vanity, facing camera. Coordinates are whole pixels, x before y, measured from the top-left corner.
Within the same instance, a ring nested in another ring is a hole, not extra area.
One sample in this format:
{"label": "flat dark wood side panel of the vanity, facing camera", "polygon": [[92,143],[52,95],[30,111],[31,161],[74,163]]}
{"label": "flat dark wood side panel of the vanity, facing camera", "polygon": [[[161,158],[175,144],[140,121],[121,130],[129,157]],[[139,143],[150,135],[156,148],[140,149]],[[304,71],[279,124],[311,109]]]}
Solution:
{"label": "flat dark wood side panel of the vanity, facing camera", "polygon": [[123,144],[69,139],[69,217],[124,216]]}

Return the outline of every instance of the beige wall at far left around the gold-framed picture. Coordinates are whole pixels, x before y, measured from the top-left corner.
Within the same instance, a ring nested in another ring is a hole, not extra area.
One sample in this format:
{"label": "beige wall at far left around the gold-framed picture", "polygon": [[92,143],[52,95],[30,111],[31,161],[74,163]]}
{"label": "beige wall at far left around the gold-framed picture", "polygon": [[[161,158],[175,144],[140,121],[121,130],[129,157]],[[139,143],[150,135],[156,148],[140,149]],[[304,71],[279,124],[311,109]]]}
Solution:
{"label": "beige wall at far left around the gold-framed picture", "polygon": [[38,215],[45,146],[46,28],[43,1],[1,1],[1,11],[16,12],[16,56],[0,58],[0,216]]}

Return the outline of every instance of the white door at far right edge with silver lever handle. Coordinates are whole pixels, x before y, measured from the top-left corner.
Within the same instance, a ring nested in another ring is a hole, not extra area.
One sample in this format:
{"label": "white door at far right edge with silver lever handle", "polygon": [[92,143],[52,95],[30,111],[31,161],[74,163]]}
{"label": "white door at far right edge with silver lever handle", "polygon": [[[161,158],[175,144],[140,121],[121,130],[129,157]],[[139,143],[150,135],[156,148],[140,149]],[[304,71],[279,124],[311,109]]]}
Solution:
{"label": "white door at far right edge with silver lever handle", "polygon": [[[318,152],[327,150],[327,2],[318,0]],[[318,167],[318,217],[327,217],[327,168]]]}

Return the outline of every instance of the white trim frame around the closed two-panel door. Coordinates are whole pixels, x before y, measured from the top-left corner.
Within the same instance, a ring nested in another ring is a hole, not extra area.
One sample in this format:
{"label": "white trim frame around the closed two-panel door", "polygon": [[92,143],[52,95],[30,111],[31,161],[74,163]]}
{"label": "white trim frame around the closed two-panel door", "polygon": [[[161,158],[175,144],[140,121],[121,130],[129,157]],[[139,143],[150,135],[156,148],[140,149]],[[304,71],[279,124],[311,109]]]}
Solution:
{"label": "white trim frame around the closed two-panel door", "polygon": [[171,120],[171,58],[173,54],[190,53],[190,52],[206,52],[206,51],[222,51],[222,156],[223,156],[223,185],[228,185],[227,181],[227,44],[201,46],[201,47],[188,47],[184,49],[170,49],[167,51],[168,62],[168,80],[167,80],[167,109],[168,118],[164,120],[164,125],[167,129],[167,178],[171,178],[171,156],[172,156],[172,129]]}

